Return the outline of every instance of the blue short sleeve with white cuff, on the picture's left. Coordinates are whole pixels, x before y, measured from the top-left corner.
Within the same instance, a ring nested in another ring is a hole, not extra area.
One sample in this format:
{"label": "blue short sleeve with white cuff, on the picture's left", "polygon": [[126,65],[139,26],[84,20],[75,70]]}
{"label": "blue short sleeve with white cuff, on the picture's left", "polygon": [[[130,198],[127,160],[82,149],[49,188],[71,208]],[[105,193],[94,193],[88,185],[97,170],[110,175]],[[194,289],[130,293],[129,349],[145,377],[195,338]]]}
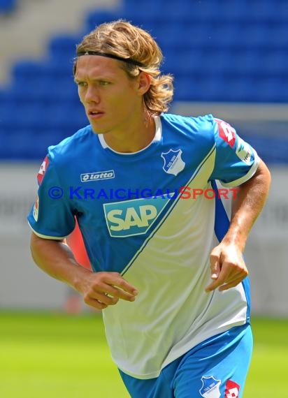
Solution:
{"label": "blue short sleeve with white cuff, on the picture's left", "polygon": [[27,216],[29,226],[39,237],[64,239],[73,231],[75,217],[59,182],[57,170],[48,156],[41,164],[37,179],[38,193]]}

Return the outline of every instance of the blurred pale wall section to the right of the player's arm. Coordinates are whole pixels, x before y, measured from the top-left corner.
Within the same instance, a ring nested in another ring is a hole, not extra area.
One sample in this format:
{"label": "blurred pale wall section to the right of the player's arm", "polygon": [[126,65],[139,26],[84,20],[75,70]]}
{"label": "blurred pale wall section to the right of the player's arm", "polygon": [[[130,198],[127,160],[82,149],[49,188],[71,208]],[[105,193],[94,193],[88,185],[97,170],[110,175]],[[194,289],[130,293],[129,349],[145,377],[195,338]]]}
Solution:
{"label": "blurred pale wall section to the right of the player's arm", "polygon": [[288,315],[288,167],[271,168],[272,185],[266,207],[246,246],[252,282],[253,310]]}

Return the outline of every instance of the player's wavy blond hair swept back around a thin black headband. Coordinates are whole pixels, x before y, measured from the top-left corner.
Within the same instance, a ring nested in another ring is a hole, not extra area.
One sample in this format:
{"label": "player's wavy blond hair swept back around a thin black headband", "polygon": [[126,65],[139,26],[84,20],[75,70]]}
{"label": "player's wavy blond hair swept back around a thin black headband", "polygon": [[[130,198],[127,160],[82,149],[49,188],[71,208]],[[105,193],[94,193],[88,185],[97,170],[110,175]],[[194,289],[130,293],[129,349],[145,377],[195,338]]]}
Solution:
{"label": "player's wavy blond hair swept back around a thin black headband", "polygon": [[[122,68],[130,78],[135,78],[141,71],[150,75],[150,89],[143,96],[147,111],[159,115],[168,110],[173,98],[173,76],[161,75],[159,67],[163,55],[147,31],[124,20],[101,24],[84,36],[77,46],[77,53],[89,51],[112,54],[131,61],[122,61]],[[74,75],[76,68],[77,58],[73,66]]]}

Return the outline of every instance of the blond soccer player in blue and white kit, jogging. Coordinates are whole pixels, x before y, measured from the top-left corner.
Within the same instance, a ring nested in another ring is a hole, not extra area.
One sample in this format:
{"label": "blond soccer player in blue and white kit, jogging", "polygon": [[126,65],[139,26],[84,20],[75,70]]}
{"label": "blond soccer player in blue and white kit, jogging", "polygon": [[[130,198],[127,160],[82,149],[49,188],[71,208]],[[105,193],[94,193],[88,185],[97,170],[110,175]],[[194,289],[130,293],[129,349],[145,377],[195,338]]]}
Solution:
{"label": "blond soccer player in blue and white kit, jogging", "polygon": [[[131,397],[242,397],[252,353],[243,251],[270,173],[225,121],[166,113],[173,78],[161,59],[150,34],[122,20],[78,45],[89,125],[48,149],[31,252],[103,310]],[[75,217],[92,271],[64,244]]]}

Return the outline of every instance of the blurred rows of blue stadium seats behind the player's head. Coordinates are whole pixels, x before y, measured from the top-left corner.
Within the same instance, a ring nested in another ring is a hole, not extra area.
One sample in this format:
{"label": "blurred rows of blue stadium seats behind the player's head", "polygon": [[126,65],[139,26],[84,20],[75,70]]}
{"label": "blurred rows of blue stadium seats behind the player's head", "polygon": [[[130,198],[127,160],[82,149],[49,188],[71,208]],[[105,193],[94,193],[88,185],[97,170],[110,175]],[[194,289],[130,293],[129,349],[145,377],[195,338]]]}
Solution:
{"label": "blurred rows of blue stadium seats behind the player's head", "polygon": [[[174,101],[288,103],[287,1],[126,0],[111,12],[90,12],[78,35],[51,37],[45,60],[13,66],[12,84],[0,90],[1,140],[13,121],[1,159],[40,159],[48,144],[87,124],[73,83],[75,44],[97,24],[120,17],[157,39],[162,69],[175,76]],[[266,140],[257,135],[257,147]]]}

